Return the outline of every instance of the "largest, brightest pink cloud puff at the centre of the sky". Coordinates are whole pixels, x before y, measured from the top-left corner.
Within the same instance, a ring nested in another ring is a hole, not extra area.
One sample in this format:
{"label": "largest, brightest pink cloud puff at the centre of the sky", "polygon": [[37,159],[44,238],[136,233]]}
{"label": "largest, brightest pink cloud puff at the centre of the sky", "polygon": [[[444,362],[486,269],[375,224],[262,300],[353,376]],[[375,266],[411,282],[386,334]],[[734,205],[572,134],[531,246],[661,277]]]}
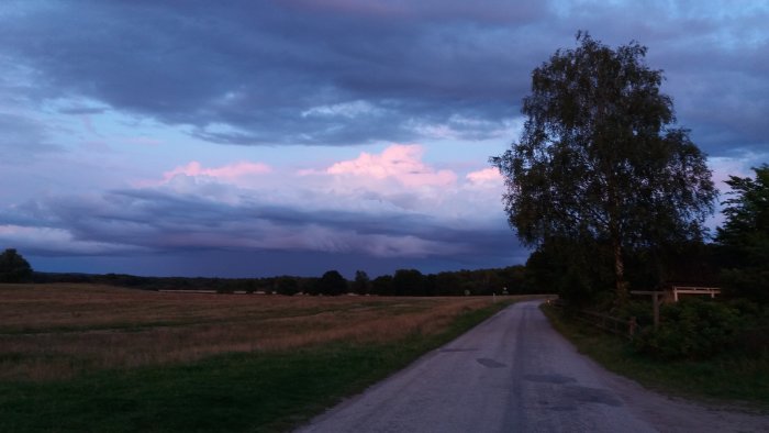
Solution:
{"label": "largest, brightest pink cloud puff at the centre of the sky", "polygon": [[343,160],[325,171],[337,176],[359,176],[378,180],[392,178],[406,187],[449,186],[457,175],[452,170],[435,170],[422,162],[420,145],[394,144],[381,154],[361,153],[356,159]]}

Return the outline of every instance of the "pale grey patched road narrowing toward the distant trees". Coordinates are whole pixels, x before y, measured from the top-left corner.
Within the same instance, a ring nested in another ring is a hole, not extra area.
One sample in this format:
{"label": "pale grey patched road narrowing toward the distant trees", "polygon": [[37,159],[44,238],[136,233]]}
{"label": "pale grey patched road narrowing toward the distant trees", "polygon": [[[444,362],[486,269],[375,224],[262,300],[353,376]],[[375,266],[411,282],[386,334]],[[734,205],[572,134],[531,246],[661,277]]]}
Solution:
{"label": "pale grey patched road narrowing toward the distant trees", "polygon": [[300,432],[769,432],[769,417],[648,391],[511,306]]}

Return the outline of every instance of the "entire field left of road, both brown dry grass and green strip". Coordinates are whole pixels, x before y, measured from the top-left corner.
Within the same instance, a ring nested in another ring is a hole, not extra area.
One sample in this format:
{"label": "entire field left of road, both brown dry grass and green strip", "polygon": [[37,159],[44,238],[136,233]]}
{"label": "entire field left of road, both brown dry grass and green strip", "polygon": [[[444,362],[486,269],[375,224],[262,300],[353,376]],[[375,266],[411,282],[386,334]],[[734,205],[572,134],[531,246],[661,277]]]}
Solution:
{"label": "entire field left of road, both brown dry grass and green strip", "polygon": [[282,431],[513,300],[0,285],[0,431]]}

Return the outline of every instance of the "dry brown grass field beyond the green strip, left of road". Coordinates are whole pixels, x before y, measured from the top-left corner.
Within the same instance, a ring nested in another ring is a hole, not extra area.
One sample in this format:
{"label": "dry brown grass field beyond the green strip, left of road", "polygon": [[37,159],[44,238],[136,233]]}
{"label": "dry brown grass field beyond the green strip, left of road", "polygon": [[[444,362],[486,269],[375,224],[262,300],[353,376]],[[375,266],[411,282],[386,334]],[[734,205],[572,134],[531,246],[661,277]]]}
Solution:
{"label": "dry brown grass field beyond the green strip, left of road", "polygon": [[0,285],[0,380],[187,363],[442,331],[490,298],[169,293],[92,285]]}

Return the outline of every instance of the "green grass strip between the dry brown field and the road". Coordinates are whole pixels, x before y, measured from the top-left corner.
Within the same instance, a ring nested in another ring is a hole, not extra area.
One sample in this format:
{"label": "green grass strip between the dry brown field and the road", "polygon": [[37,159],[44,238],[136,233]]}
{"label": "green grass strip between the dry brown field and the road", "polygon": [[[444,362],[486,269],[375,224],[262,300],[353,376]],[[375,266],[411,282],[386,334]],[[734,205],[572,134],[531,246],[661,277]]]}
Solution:
{"label": "green grass strip between the dry brown field and the road", "polygon": [[223,354],[185,365],[0,382],[2,432],[285,431],[403,368],[510,302],[457,317],[442,333],[389,344],[335,343]]}

